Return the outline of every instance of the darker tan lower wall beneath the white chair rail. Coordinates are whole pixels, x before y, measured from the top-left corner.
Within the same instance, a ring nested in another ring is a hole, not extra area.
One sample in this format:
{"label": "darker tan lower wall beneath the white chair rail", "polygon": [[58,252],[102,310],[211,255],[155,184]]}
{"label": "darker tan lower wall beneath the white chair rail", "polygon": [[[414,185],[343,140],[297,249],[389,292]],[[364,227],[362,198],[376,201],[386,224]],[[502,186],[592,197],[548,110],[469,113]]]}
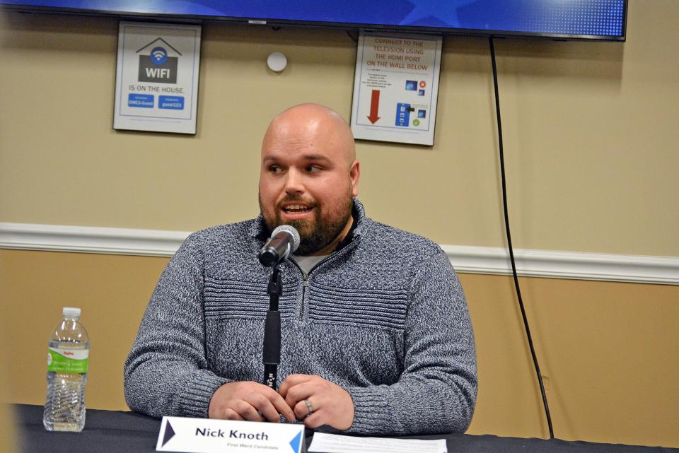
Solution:
{"label": "darker tan lower wall beneath the white chair rail", "polygon": [[[0,250],[10,401],[44,404],[45,347],[60,308],[83,309],[92,343],[90,408],[126,409],[122,365],[167,259]],[[511,278],[460,276],[477,341],[470,433],[545,437]],[[679,447],[679,287],[522,278],[562,439]]]}

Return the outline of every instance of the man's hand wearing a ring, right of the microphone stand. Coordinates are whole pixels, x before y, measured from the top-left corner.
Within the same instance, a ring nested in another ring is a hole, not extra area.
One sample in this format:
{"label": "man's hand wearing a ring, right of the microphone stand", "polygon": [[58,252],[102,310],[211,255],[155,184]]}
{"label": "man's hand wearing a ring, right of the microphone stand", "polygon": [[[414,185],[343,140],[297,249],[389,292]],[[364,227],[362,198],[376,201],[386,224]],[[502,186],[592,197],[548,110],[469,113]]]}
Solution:
{"label": "man's hand wearing a ring, right of the microphone stand", "polygon": [[[349,392],[320,376],[289,375],[279,393],[307,428],[330,425],[347,430],[354,423],[354,401]],[[311,406],[311,413],[309,411]]]}

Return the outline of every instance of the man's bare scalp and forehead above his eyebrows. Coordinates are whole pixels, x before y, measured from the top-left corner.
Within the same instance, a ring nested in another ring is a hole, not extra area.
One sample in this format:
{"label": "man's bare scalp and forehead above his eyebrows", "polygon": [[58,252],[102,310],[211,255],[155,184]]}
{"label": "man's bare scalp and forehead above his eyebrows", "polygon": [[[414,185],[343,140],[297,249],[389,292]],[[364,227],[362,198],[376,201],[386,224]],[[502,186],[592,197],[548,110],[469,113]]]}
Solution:
{"label": "man's bare scalp and forehead above his eyebrows", "polygon": [[323,146],[347,167],[356,160],[352,129],[339,113],[324,105],[300,104],[277,114],[262,141],[262,157],[272,140],[281,139],[291,146]]}

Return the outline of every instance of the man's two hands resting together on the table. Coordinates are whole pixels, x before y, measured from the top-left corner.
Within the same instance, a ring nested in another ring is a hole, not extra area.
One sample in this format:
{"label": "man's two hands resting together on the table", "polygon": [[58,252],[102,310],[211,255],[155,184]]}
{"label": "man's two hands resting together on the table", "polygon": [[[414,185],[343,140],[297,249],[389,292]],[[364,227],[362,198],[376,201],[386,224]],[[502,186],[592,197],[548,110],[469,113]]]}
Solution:
{"label": "man's two hands resting together on the table", "polygon": [[[309,412],[311,404],[312,412]],[[307,428],[330,425],[347,430],[354,422],[349,392],[320,376],[289,375],[279,392],[257,382],[228,382],[214,392],[209,418],[226,420],[303,420]]]}

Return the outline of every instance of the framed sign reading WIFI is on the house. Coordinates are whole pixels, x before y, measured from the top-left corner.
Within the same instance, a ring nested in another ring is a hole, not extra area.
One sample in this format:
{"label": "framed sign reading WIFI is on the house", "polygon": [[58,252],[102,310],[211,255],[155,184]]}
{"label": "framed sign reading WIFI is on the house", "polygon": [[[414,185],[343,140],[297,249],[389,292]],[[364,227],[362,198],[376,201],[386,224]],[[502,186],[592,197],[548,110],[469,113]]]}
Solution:
{"label": "framed sign reading WIFI is on the house", "polygon": [[200,32],[120,22],[113,129],[196,133]]}

